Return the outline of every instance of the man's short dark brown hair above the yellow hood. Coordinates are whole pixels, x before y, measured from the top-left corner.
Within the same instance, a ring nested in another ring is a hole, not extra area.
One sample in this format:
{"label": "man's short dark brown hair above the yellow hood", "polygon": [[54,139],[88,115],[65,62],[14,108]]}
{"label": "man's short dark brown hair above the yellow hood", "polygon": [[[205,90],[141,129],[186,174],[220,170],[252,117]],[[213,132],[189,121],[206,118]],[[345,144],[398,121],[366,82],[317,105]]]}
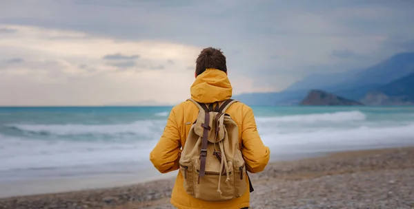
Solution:
{"label": "man's short dark brown hair above the yellow hood", "polygon": [[221,52],[221,49],[208,47],[201,50],[195,63],[195,74],[197,76],[206,71],[207,68],[215,68],[227,73],[226,56]]}

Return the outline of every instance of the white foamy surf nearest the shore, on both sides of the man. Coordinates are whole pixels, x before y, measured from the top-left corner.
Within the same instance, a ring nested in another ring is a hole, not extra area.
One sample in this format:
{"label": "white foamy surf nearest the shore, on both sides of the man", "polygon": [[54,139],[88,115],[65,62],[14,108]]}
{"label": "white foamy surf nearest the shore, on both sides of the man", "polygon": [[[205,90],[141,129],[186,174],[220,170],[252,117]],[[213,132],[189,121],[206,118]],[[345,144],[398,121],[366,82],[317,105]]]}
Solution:
{"label": "white foamy surf nearest the shore, on both sides of the man", "polygon": [[[414,124],[359,126],[348,129],[314,129],[311,132],[268,131],[262,140],[274,154],[340,150],[345,147],[414,144]],[[159,136],[158,136],[159,137]],[[146,162],[157,139],[130,143],[23,140],[0,135],[0,170]]]}

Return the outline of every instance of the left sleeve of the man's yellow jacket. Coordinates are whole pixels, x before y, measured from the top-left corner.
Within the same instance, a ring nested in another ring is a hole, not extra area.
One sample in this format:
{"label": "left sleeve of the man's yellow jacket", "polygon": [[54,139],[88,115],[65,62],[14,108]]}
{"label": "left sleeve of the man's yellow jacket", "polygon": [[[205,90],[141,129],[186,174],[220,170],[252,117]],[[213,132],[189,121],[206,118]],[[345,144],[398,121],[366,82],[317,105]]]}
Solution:
{"label": "left sleeve of the man's yellow jacket", "polygon": [[160,173],[177,170],[179,169],[180,148],[179,129],[175,120],[174,109],[172,109],[161,138],[150,152],[150,161]]}

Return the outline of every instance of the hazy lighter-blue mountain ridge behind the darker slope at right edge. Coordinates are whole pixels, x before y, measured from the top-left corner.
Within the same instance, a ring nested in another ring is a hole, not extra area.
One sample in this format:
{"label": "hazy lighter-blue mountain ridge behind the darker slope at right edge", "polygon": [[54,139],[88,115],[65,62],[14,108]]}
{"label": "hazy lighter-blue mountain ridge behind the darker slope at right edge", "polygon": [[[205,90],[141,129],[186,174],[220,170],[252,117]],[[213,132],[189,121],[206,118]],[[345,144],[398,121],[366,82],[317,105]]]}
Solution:
{"label": "hazy lighter-blue mountain ridge behind the darker slope at right edge", "polygon": [[296,105],[310,89],[321,89],[343,98],[362,100],[368,92],[414,72],[414,52],[396,54],[366,69],[335,74],[311,74],[281,92],[235,96],[249,105]]}

